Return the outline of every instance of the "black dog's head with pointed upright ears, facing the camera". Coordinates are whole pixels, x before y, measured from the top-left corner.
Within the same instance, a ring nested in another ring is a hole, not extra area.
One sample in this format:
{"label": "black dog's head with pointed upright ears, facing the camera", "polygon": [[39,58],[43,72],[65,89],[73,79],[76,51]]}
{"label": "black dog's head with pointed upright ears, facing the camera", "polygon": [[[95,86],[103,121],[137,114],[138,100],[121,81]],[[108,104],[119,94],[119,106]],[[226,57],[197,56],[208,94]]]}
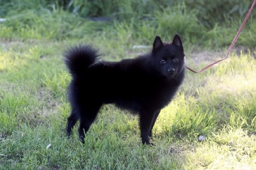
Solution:
{"label": "black dog's head with pointed upright ears, facing the camera", "polygon": [[153,43],[152,58],[154,58],[154,68],[161,72],[161,75],[170,79],[179,75],[184,70],[185,62],[180,36],[175,35],[172,43],[163,43],[161,38],[156,36]]}

